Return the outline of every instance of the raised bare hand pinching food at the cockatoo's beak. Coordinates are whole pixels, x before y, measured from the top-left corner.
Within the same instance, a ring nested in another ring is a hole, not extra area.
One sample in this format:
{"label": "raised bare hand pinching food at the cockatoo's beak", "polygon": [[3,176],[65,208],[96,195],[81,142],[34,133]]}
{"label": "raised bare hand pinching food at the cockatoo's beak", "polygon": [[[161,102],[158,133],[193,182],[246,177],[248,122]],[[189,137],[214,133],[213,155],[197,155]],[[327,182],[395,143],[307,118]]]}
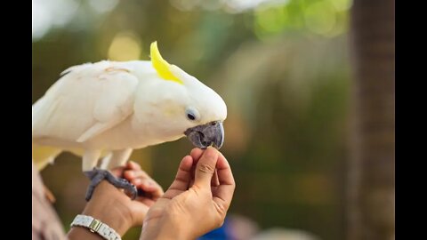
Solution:
{"label": "raised bare hand pinching food at the cockatoo's beak", "polygon": [[235,187],[230,164],[219,151],[194,148],[149,209],[140,239],[193,239],[221,227]]}

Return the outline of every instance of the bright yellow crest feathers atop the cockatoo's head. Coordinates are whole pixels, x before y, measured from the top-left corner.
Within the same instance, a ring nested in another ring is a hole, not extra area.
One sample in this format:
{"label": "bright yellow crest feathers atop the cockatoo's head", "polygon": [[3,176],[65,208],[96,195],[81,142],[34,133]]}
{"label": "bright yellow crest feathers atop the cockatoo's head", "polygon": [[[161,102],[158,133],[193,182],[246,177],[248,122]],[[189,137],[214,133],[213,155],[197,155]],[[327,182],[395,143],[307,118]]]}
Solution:
{"label": "bright yellow crest feathers atop the cockatoo's head", "polygon": [[156,69],[157,74],[161,76],[163,79],[168,81],[173,81],[178,84],[184,84],[182,81],[173,75],[171,72],[171,65],[162,58],[162,55],[160,55],[160,52],[157,48],[157,41],[151,43],[149,47],[149,54],[151,56],[151,62],[153,64],[153,68]]}

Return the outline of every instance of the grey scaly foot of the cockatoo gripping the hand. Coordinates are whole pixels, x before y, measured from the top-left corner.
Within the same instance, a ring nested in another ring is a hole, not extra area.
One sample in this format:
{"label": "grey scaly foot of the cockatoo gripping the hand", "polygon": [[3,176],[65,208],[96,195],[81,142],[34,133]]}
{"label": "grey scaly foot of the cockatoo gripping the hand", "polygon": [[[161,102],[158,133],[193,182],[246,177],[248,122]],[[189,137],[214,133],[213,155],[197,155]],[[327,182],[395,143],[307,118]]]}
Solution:
{"label": "grey scaly foot of the cockatoo gripping the hand", "polygon": [[132,183],[130,183],[128,180],[117,178],[108,170],[94,167],[92,171],[86,171],[84,173],[86,177],[91,180],[91,183],[89,184],[89,187],[86,191],[86,201],[91,200],[94,189],[96,186],[98,186],[98,184],[100,184],[102,180],[108,180],[109,183],[111,183],[116,188],[125,189],[125,194],[130,196],[132,199],[135,199],[137,195],[137,189],[135,186],[133,186]]}

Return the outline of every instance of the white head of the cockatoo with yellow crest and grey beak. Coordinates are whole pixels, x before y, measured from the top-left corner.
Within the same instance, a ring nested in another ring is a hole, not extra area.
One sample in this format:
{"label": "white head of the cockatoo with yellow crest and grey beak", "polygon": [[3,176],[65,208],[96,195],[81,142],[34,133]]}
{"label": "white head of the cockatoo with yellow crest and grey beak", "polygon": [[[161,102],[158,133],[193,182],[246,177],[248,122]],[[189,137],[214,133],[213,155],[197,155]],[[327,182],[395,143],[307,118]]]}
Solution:
{"label": "white head of the cockatoo with yellow crest and grey beak", "polygon": [[227,117],[224,100],[196,77],[167,63],[157,42],[151,44],[150,56],[156,74],[145,88],[151,91],[139,95],[149,103],[143,110],[144,116],[156,119],[156,123],[149,124],[151,135],[157,135],[159,141],[177,140],[185,135],[197,148],[221,148],[222,122]]}

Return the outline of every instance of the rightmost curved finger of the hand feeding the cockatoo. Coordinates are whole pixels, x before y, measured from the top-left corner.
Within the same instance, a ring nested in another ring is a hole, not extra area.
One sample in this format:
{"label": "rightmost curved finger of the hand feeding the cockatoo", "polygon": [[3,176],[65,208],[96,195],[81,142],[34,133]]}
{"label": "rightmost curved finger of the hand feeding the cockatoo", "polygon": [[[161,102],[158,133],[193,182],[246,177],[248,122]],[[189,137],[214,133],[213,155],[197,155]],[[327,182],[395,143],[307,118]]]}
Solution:
{"label": "rightmost curved finger of the hand feeding the cockatoo", "polygon": [[236,188],[236,183],[234,181],[233,173],[231,172],[230,164],[222,154],[218,157],[216,167],[220,186],[218,186],[218,188],[213,192],[214,201],[215,203],[220,204],[223,209],[227,210],[229,209],[234,189]]}

